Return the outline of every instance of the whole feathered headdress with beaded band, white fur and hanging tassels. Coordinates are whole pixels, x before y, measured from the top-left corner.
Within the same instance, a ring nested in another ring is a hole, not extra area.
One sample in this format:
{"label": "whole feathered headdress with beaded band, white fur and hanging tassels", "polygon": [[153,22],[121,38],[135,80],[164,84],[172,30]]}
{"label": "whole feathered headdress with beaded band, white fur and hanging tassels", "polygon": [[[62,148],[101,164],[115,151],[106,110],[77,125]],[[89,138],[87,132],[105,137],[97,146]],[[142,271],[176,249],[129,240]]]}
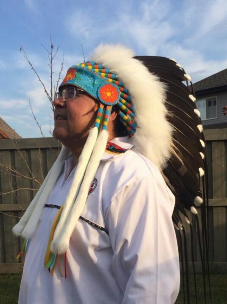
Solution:
{"label": "whole feathered headdress with beaded band, white fur and hanging tassels", "polygon": [[[175,60],[134,55],[132,50],[121,45],[100,45],[89,61],[72,66],[60,85],[75,85],[88,92],[98,100],[99,109],[59,216],[51,243],[53,253],[65,253],[69,247],[71,233],[84,209],[89,187],[105,150],[106,128],[113,105],[119,107],[120,120],[135,149],[156,164],[174,192],[173,222],[177,231],[184,233],[179,211],[191,225],[185,210],[196,216],[196,204],[207,202],[200,190],[200,179],[204,179],[206,170],[205,143],[194,92],[188,88],[190,77]],[[68,152],[62,147],[40,190],[13,228],[16,235],[29,238],[33,234]],[[201,205],[204,267],[207,255],[205,205]]]}

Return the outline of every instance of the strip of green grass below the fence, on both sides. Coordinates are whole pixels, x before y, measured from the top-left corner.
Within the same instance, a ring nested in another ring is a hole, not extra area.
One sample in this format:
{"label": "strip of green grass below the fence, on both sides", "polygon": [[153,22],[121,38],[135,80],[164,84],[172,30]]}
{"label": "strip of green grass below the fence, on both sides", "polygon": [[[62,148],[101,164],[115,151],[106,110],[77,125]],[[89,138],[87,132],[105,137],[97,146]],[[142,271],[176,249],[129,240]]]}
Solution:
{"label": "strip of green grass below the fence, on both sides", "polygon": [[[212,304],[227,303],[227,274],[211,274]],[[0,304],[16,304],[20,288],[21,274],[0,275]],[[195,304],[193,291],[193,275],[190,275],[190,304]],[[203,294],[202,275],[196,275],[198,304],[205,303]],[[209,303],[209,302],[208,302]],[[181,286],[176,304],[184,304],[184,295]]]}

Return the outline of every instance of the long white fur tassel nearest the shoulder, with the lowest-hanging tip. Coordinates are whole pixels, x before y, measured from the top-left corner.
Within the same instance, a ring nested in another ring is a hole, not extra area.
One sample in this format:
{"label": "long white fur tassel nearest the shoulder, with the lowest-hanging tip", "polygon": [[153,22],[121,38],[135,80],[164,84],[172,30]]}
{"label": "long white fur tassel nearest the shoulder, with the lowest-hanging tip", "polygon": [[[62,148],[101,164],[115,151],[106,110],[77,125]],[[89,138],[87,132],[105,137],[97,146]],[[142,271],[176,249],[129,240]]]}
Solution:
{"label": "long white fur tassel nearest the shoulder, with the lowest-hanging tip", "polygon": [[102,130],[95,143],[94,150],[91,154],[91,159],[88,163],[86,172],[84,174],[84,180],[81,184],[80,192],[77,196],[76,201],[73,204],[71,212],[67,218],[67,222],[64,226],[59,229],[58,234],[54,234],[53,241],[51,243],[51,251],[58,254],[63,254],[69,248],[69,239],[73,232],[73,229],[77,223],[77,220],[83,212],[84,205],[87,200],[89,187],[95,176],[95,172],[100,163],[102,154],[105,151],[106,143],[108,140],[108,133]]}

